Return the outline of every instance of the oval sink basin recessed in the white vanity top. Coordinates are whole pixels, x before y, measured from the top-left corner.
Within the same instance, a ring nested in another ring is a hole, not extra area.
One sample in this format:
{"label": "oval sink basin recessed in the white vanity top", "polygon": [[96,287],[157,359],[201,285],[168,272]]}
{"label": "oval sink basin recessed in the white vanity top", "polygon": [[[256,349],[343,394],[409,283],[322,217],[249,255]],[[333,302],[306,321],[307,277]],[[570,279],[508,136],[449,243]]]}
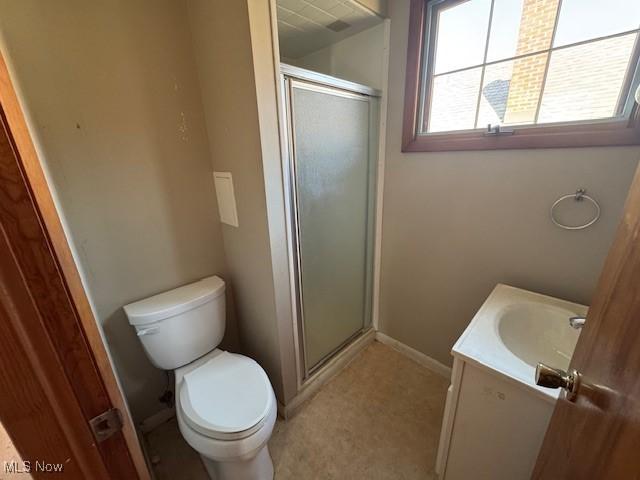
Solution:
{"label": "oval sink basin recessed in the white vanity top", "polygon": [[566,370],[580,332],[569,325],[576,313],[539,303],[507,305],[497,314],[502,343],[523,362]]}

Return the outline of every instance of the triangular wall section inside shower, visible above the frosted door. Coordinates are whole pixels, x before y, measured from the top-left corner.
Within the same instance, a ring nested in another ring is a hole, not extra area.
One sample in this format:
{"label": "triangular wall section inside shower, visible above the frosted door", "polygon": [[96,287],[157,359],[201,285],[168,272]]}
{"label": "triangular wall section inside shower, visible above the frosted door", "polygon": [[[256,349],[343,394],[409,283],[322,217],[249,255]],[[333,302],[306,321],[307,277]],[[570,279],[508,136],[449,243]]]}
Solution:
{"label": "triangular wall section inside shower, visible above the frosted door", "polygon": [[317,52],[287,60],[298,67],[382,89],[384,37],[385,25],[381,23]]}

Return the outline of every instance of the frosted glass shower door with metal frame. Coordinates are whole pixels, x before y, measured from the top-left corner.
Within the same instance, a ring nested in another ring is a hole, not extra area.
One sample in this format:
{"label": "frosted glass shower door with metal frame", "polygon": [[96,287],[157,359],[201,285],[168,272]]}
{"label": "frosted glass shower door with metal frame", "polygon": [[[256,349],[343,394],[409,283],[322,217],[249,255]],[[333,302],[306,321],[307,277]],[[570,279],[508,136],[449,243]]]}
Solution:
{"label": "frosted glass shower door with metal frame", "polygon": [[282,66],[300,380],[371,328],[376,90]]}

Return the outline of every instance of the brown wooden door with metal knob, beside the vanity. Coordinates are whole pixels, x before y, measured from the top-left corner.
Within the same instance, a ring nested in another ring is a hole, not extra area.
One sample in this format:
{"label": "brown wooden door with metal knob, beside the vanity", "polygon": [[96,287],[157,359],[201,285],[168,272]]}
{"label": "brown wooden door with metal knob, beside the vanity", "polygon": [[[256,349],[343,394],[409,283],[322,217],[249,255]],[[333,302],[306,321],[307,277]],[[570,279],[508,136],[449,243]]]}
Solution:
{"label": "brown wooden door with metal knob, beside the vanity", "polygon": [[640,479],[640,167],[570,368],[532,478]]}

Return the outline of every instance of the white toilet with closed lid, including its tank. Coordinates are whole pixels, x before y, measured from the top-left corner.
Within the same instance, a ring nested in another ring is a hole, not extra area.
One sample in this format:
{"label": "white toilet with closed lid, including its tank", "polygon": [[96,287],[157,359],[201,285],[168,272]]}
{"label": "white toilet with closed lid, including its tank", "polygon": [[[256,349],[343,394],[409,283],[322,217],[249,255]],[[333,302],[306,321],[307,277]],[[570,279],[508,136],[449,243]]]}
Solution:
{"label": "white toilet with closed lid, including its tank", "polygon": [[225,329],[225,284],[208,277],[124,307],[147,356],[174,370],[178,426],[209,476],[273,478],[267,442],[277,404],[254,360],[218,349]]}

